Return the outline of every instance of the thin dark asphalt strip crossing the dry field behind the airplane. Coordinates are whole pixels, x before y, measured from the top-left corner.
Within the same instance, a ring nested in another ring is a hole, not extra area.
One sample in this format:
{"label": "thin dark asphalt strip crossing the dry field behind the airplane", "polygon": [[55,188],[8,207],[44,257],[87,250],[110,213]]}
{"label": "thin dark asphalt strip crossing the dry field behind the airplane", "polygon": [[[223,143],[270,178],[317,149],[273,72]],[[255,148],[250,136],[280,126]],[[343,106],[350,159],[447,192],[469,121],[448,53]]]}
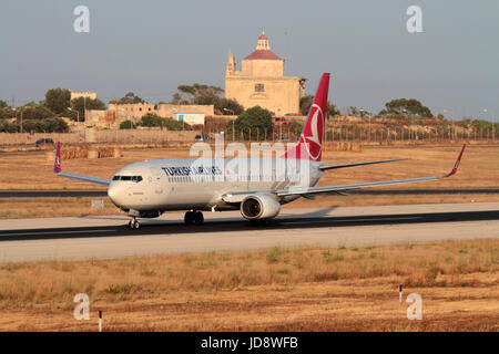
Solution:
{"label": "thin dark asphalt strip crossing the dry field behind the airplane", "polygon": [[[352,195],[495,195],[499,188],[459,188],[459,189],[361,189]],[[53,198],[53,197],[106,197],[106,190],[0,190],[0,198]]]}

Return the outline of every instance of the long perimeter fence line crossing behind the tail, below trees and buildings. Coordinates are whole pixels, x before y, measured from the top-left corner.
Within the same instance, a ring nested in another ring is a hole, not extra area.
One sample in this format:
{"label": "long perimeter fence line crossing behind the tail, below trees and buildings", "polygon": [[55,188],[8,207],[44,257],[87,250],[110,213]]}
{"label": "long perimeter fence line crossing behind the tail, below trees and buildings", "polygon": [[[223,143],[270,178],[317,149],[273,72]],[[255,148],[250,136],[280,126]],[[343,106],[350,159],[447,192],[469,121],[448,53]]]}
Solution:
{"label": "long perimeter fence line crossing behind the tail, below trees and buildings", "polygon": [[[374,121],[374,119],[373,119]],[[405,125],[391,122],[328,122],[325,143],[358,143],[358,144],[411,144],[411,143],[450,143],[477,142],[499,143],[498,124],[465,125],[460,124],[419,124]],[[224,132],[225,131],[225,132]],[[94,129],[80,133],[0,133],[0,146],[34,145],[40,138],[52,138],[63,144],[98,143],[116,145],[136,144],[192,144],[196,136],[204,133],[212,139],[215,134],[224,132],[225,142],[296,142],[301,134],[298,125],[279,125],[271,129],[247,128],[227,132],[226,127],[212,127],[210,131],[165,131],[150,129]]]}

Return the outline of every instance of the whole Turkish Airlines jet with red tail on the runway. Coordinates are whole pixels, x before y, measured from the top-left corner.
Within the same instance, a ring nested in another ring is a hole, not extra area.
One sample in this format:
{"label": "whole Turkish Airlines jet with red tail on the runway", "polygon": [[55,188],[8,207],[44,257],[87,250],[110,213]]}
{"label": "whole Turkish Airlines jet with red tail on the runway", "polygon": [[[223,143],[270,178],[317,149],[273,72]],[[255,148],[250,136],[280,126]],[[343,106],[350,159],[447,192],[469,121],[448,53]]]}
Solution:
{"label": "whole Turkish Airlines jet with red tail on the runway", "polygon": [[[140,228],[138,218],[155,218],[165,211],[186,211],[185,225],[202,225],[202,211],[240,210],[252,223],[266,225],[279,214],[282,205],[301,197],[314,199],[319,194],[345,195],[359,188],[438,180],[456,174],[466,144],[452,169],[444,175],[317,187],[316,184],[327,170],[404,160],[398,158],[337,165],[322,162],[328,87],[329,73],[324,73],[298,143],[282,155],[224,157],[218,160],[144,160],[128,165],[112,179],[106,179],[62,171],[61,145],[58,142],[53,170],[59,177],[108,186],[111,201],[131,217],[130,229]],[[284,169],[278,168],[283,165]],[[291,168],[291,165],[294,167]]]}

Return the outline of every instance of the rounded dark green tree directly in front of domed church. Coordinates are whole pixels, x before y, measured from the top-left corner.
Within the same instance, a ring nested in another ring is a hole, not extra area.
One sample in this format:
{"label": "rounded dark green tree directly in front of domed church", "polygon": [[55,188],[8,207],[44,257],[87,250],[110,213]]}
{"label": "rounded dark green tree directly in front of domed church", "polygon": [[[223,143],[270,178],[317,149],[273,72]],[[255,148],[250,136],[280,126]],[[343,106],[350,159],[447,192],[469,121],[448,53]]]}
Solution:
{"label": "rounded dark green tree directly in front of domed church", "polygon": [[264,136],[264,132],[272,133],[272,116],[271,112],[262,108],[261,106],[254,106],[243,112],[237,119],[227,123],[225,129],[227,135],[233,134],[232,128],[234,126],[235,135],[241,136],[243,133],[245,138],[255,139],[258,135]]}

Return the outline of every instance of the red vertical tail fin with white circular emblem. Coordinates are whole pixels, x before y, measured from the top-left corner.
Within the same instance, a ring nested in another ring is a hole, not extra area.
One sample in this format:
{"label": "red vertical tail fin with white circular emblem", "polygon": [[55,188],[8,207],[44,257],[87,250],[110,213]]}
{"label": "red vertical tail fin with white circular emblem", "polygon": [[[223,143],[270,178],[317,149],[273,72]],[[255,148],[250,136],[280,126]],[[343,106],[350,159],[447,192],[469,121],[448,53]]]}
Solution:
{"label": "red vertical tail fin with white circular emblem", "polygon": [[[301,158],[319,162],[323,153],[323,137],[326,126],[327,92],[329,73],[324,73],[315,94],[314,103],[308,111],[298,144],[284,154],[284,158]],[[305,153],[302,153],[305,152]]]}

